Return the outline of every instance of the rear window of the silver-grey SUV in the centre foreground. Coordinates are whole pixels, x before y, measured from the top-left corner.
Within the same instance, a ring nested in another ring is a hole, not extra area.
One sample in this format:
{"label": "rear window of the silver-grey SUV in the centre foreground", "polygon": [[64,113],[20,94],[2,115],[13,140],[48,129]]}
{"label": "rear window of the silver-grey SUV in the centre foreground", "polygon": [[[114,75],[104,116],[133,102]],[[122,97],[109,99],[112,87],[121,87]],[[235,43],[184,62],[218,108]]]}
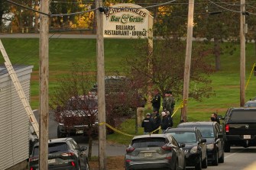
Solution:
{"label": "rear window of the silver-grey SUV in the centre foreground", "polygon": [[165,139],[162,137],[148,137],[132,140],[131,146],[134,148],[161,147],[164,146]]}

